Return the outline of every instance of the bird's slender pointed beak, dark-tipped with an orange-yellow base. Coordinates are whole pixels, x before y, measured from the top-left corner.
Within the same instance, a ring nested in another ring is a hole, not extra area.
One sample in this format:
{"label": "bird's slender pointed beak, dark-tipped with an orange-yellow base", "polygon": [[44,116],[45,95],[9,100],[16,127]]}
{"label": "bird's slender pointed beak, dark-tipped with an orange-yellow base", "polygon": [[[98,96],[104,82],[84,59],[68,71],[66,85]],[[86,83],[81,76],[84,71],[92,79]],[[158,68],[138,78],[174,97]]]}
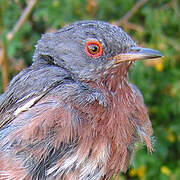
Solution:
{"label": "bird's slender pointed beak, dark-tipped with an orange-yellow base", "polygon": [[109,60],[114,60],[115,63],[120,63],[125,61],[157,59],[161,57],[163,57],[163,55],[159,51],[156,51],[154,49],[132,47],[129,52],[118,54],[114,57],[109,58]]}

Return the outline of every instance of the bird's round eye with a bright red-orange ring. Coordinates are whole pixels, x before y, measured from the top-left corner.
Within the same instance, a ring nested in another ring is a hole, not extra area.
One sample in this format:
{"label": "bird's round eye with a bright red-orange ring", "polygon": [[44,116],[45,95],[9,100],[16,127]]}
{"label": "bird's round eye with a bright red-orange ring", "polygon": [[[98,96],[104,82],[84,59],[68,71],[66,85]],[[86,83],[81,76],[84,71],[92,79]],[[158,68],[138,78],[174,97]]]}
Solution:
{"label": "bird's round eye with a bright red-orange ring", "polygon": [[85,51],[93,58],[99,57],[103,53],[102,44],[98,41],[89,41],[86,43]]}

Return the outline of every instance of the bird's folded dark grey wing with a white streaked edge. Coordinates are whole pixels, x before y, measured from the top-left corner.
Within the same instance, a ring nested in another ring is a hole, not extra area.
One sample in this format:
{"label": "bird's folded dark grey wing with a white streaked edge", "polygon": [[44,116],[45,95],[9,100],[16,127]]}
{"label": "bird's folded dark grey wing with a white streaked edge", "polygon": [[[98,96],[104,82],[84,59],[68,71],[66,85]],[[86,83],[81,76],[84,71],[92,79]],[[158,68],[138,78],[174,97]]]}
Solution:
{"label": "bird's folded dark grey wing with a white streaked edge", "polygon": [[13,121],[18,111],[33,106],[65,79],[71,78],[60,67],[48,64],[32,66],[15,76],[6,92],[0,96],[0,129]]}

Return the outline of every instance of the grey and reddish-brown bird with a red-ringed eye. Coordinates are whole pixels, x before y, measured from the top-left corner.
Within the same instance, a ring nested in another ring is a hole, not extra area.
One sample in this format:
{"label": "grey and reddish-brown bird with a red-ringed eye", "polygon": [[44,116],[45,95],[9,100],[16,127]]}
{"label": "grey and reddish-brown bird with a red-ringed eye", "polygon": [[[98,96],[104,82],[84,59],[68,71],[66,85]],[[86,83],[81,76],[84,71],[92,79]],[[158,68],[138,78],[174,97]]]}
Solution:
{"label": "grey and reddish-brown bird with a red-ringed eye", "polygon": [[109,180],[126,172],[136,142],[153,151],[129,68],[162,56],[99,20],[43,34],[32,65],[0,96],[0,179]]}

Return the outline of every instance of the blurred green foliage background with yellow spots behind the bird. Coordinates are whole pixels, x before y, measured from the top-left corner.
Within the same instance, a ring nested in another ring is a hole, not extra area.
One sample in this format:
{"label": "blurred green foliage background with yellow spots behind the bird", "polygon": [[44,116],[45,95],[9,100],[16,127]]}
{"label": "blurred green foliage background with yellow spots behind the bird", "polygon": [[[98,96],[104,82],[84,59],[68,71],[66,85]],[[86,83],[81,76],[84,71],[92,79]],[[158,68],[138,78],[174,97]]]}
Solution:
{"label": "blurred green foliage background with yellow spots behind the bird", "polygon": [[[30,5],[34,7],[25,17],[24,10]],[[24,23],[15,26],[21,16],[25,17]],[[0,0],[0,92],[8,79],[31,64],[34,46],[42,33],[85,19],[122,26],[138,44],[157,49],[165,56],[163,60],[137,62],[131,69],[130,81],[142,91],[152,120],[154,153],[137,146],[131,168],[118,179],[179,180],[178,0]]]}

